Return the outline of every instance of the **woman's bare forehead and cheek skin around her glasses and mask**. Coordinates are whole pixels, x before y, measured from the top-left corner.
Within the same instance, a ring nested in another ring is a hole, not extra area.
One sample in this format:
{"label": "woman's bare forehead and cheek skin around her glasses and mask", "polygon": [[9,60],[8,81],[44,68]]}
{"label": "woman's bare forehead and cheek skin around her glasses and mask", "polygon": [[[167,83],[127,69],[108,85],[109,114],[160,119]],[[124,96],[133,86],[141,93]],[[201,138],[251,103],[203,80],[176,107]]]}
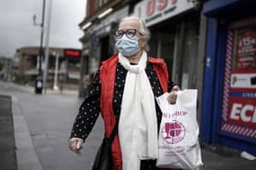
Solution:
{"label": "woman's bare forehead and cheek skin around her glasses and mask", "polygon": [[140,49],[143,49],[144,46],[146,45],[146,39],[142,38],[143,36],[139,32],[141,30],[140,23],[136,20],[131,19],[131,20],[125,20],[125,21],[123,21],[119,24],[118,30],[126,31],[128,29],[135,29],[136,30],[136,36],[139,39],[138,40],[139,47],[140,47]]}

